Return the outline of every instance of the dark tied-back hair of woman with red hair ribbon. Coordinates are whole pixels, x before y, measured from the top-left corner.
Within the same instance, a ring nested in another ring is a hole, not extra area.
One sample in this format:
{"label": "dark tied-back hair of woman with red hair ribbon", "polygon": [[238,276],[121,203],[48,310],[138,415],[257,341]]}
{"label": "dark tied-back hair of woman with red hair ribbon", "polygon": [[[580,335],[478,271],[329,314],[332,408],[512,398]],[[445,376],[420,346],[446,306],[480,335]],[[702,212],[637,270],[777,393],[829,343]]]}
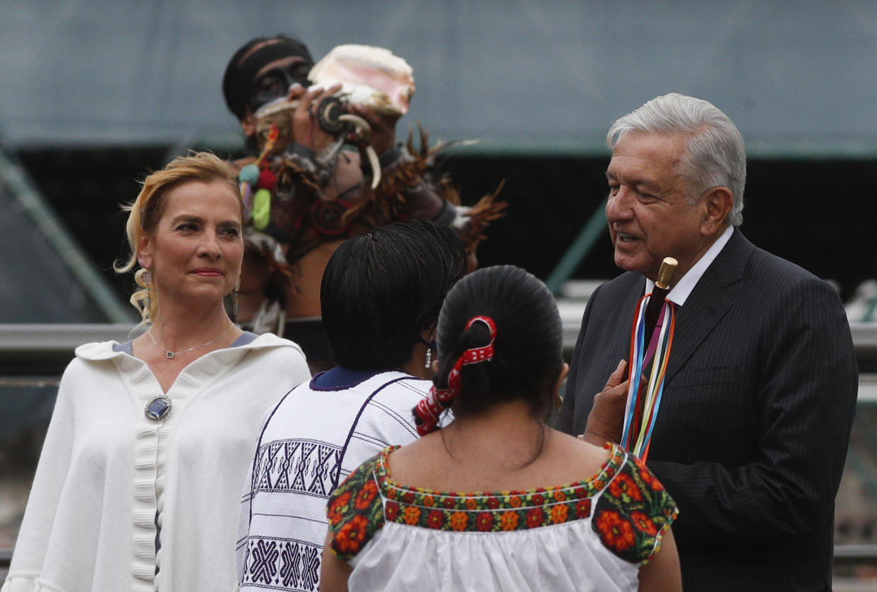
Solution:
{"label": "dark tied-back hair of woman with red hair ribbon", "polygon": [[563,367],[563,325],[552,293],[520,267],[484,267],[448,293],[439,315],[439,389],[469,348],[487,346],[487,325],[466,325],[473,317],[496,325],[494,358],[462,367],[457,417],[476,415],[496,403],[524,400],[536,417],[550,409],[552,387]]}

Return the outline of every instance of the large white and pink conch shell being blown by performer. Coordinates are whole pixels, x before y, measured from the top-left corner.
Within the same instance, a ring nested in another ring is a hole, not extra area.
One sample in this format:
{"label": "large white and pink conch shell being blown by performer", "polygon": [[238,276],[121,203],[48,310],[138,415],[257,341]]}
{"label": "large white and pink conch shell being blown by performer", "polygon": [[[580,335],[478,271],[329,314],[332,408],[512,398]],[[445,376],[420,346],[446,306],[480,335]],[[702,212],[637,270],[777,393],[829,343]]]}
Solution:
{"label": "large white and pink conch shell being blown by performer", "polygon": [[341,84],[339,96],[384,114],[404,115],[414,95],[414,69],[389,49],[337,46],[310,69],[308,80],[324,89]]}

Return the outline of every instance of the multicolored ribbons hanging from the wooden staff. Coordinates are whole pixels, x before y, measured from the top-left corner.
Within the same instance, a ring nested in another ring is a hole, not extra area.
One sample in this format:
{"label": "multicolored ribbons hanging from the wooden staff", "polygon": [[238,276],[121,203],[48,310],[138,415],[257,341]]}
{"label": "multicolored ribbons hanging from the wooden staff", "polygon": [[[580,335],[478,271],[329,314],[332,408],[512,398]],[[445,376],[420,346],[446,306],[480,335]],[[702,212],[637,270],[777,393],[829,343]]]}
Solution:
{"label": "multicolored ribbons hanging from the wooden staff", "polygon": [[666,301],[663,305],[664,322],[660,327],[658,342],[652,357],[652,370],[648,382],[640,387],[646,369],[645,353],[652,339],[651,335],[645,335],[645,308],[651,296],[652,294],[646,294],[639,299],[637,317],[631,331],[631,363],[628,364],[630,386],[627,391],[624,431],[621,436],[624,450],[641,460],[645,460],[649,453],[652,430],[658,417],[661,396],[664,393],[664,376],[667,374],[667,363],[670,360],[676,325],[676,305]]}

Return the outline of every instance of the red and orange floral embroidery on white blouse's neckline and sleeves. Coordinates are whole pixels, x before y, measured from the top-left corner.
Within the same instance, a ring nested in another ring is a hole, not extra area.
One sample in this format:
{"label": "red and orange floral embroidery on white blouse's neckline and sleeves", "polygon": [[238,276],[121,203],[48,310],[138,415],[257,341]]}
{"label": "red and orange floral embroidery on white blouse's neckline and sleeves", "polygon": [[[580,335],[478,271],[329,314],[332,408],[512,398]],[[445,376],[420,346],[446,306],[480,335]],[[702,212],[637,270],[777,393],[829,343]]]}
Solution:
{"label": "red and orange floral embroidery on white blouse's neckline and sleeves", "polygon": [[[595,515],[593,527],[603,545],[624,560],[638,561],[657,551],[660,534],[675,516],[673,501],[660,483],[618,446],[611,447],[609,460],[586,481],[548,489],[467,494],[410,488],[392,481],[386,473],[387,457],[396,447],[363,463],[330,498],[332,549],[343,560],[359,553],[385,521],[439,531],[523,531],[586,519],[597,500],[599,517]],[[646,487],[658,489],[646,491]],[[610,498],[609,503],[602,503],[604,498]]]}

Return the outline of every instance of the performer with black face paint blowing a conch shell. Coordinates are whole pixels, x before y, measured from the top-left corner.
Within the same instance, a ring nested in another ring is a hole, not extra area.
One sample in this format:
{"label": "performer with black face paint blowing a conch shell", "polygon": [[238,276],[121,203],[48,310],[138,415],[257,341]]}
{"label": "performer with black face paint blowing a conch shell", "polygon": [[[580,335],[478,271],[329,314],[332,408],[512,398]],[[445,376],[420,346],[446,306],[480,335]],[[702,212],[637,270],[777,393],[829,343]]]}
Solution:
{"label": "performer with black face paint blowing a conch shell", "polygon": [[460,205],[436,168],[448,145],[421,129],[396,145],[414,93],[410,66],[386,49],[339,46],[313,65],[297,39],[253,39],[232,56],[223,90],[255,156],[239,161],[249,222],[240,320],[330,360],[319,316],[323,269],[340,241],[409,218],[453,225],[475,252],[505,203]]}

